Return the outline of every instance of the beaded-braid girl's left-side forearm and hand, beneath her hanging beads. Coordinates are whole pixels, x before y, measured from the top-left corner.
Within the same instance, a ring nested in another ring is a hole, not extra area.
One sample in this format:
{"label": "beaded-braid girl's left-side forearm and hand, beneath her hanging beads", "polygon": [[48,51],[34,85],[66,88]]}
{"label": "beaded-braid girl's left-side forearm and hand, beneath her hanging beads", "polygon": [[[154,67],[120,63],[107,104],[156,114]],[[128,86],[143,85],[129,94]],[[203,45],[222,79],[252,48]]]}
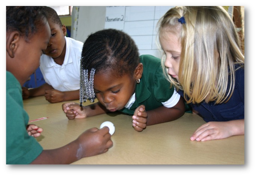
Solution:
{"label": "beaded-braid girl's left-side forearm and hand, beneath her hanging beads", "polygon": [[74,102],[64,103],[62,104],[62,110],[68,119],[81,119],[109,112],[100,102],[83,107]]}

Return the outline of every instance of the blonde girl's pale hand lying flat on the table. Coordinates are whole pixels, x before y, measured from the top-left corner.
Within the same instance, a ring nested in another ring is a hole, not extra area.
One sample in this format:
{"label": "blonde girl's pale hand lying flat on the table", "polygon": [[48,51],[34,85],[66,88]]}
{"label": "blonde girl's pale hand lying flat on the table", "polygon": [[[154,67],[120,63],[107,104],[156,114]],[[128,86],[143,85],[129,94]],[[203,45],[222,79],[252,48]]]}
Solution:
{"label": "blonde girl's pale hand lying flat on the table", "polygon": [[191,141],[208,141],[232,136],[229,122],[208,122],[200,126],[190,137]]}

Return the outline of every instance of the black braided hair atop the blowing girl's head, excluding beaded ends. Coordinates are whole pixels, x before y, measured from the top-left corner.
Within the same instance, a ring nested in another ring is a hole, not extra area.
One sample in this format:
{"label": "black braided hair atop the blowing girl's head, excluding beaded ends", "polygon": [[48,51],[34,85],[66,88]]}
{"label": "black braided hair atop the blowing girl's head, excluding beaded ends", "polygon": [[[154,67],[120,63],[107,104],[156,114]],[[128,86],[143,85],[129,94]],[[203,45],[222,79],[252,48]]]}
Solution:
{"label": "black braided hair atop the blowing girl's head, excluding beaded ends", "polygon": [[83,45],[81,69],[114,71],[130,75],[139,64],[139,51],[133,39],[123,31],[104,29],[89,35]]}

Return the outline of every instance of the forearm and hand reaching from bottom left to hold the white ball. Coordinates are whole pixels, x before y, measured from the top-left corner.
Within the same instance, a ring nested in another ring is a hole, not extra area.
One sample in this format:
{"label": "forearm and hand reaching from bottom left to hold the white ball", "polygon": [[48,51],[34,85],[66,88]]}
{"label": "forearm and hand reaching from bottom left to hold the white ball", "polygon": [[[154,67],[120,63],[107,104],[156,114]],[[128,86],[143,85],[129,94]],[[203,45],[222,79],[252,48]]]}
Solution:
{"label": "forearm and hand reaching from bottom left to hold the white ball", "polygon": [[43,152],[31,164],[70,164],[83,157],[99,155],[112,147],[108,127],[91,128],[69,144]]}

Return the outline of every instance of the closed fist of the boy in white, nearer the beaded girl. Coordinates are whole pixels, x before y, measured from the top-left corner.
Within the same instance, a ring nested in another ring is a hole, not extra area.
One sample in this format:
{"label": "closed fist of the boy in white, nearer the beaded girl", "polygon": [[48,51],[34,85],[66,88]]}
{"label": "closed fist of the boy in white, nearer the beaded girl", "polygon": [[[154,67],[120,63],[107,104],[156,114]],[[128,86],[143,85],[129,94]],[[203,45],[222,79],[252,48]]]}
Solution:
{"label": "closed fist of the boy in white, nearer the beaded girl", "polygon": [[58,103],[64,101],[64,92],[58,91],[56,89],[46,89],[44,97],[50,103]]}

